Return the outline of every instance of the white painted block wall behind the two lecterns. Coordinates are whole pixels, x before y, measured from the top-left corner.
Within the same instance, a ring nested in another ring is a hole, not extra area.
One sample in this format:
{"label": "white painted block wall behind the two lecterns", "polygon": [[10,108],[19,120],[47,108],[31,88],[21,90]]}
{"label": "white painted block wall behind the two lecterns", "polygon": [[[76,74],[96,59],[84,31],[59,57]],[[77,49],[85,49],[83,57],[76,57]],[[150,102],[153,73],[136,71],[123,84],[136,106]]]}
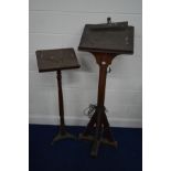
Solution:
{"label": "white painted block wall behind the two lecterns", "polygon": [[86,125],[83,110],[96,104],[98,66],[89,53],[78,52],[86,23],[128,21],[135,26],[135,54],[113,61],[107,75],[107,116],[111,126],[141,127],[142,24],[141,0],[30,0],[30,124],[58,124],[55,73],[39,73],[35,51],[74,47],[82,65],[63,72],[67,125]]}

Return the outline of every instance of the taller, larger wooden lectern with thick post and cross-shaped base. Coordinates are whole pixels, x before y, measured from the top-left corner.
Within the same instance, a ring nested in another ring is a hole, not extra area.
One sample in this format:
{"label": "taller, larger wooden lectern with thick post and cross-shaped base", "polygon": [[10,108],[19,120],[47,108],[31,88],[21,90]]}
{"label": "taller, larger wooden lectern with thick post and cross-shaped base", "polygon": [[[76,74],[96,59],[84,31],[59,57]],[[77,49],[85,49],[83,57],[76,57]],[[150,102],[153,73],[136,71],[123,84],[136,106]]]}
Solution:
{"label": "taller, larger wooden lectern with thick post and cross-shaped base", "polygon": [[86,24],[78,50],[90,52],[99,66],[97,106],[85,131],[79,135],[79,139],[93,141],[90,154],[96,157],[100,143],[117,148],[104,106],[106,75],[107,67],[117,55],[133,53],[133,26],[129,26],[128,22],[111,23],[110,18],[104,24]]}

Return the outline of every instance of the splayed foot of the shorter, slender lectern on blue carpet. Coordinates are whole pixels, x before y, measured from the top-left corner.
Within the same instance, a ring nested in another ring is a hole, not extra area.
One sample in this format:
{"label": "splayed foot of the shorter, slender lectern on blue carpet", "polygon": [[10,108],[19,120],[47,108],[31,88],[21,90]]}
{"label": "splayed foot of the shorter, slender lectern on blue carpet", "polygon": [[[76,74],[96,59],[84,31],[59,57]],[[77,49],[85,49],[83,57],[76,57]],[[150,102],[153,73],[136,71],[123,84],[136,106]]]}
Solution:
{"label": "splayed foot of the shorter, slender lectern on blue carpet", "polygon": [[54,137],[51,145],[54,145],[56,141],[64,140],[64,139],[74,139],[74,140],[76,140],[76,137],[71,135],[66,130],[60,130],[58,133]]}

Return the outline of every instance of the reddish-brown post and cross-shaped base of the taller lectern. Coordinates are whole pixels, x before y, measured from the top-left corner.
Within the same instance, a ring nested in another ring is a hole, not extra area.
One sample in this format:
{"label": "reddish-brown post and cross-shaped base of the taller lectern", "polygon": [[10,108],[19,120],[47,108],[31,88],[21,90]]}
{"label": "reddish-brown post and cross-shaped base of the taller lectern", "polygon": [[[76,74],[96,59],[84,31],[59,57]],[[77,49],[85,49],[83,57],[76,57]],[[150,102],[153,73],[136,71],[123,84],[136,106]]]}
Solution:
{"label": "reddish-brown post and cross-shaped base of the taller lectern", "polygon": [[107,53],[93,53],[97,64],[99,65],[99,82],[98,82],[98,99],[97,107],[86,127],[86,130],[79,135],[79,139],[93,141],[93,148],[90,154],[97,157],[98,148],[100,143],[114,146],[117,148],[118,143],[114,140],[109,122],[105,113],[105,89],[106,89],[106,75],[107,67],[111,64],[116,54]]}

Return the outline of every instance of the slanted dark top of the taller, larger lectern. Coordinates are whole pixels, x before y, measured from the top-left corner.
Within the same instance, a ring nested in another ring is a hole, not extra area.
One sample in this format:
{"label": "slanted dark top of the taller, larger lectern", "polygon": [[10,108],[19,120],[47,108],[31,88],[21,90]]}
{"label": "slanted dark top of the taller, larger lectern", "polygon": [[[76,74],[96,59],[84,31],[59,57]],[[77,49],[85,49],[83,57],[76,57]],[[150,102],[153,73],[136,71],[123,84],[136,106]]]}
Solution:
{"label": "slanted dark top of the taller, larger lectern", "polygon": [[129,26],[128,22],[86,24],[78,50],[87,52],[132,54],[133,26]]}

